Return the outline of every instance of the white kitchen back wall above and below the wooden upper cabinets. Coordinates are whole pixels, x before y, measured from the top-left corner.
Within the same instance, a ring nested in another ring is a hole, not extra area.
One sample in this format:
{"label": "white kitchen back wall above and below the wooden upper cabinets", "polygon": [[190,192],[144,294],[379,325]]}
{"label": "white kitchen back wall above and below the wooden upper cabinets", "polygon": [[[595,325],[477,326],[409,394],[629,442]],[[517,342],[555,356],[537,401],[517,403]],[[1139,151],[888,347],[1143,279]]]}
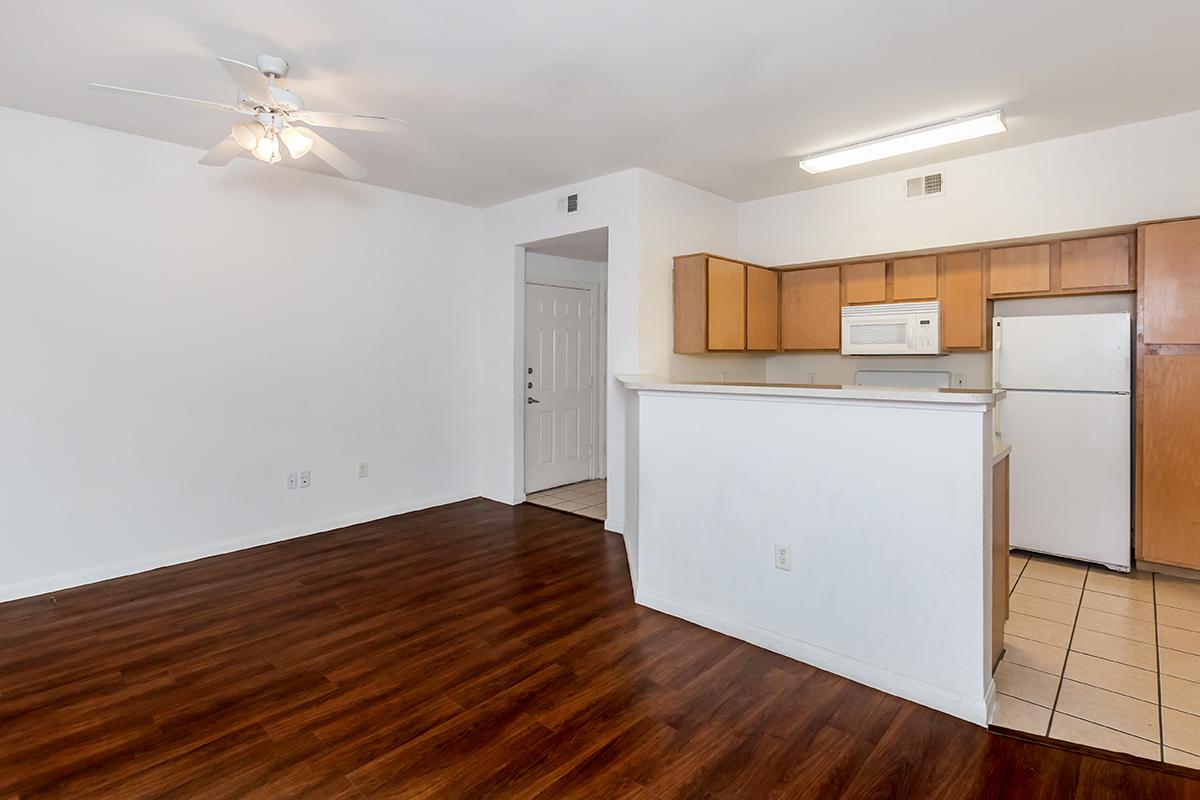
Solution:
{"label": "white kitchen back wall above and below the wooden upper cabinets", "polygon": [[[1195,215],[1198,142],[1200,112],[743,203],[738,255],[794,264]],[[902,198],[904,178],[937,170],[944,197]],[[953,359],[971,383],[990,380],[989,354]],[[905,369],[947,362],[892,360]],[[869,367],[858,359],[786,354],[768,356],[766,372],[772,381],[816,372],[818,381],[848,383],[860,368]]]}

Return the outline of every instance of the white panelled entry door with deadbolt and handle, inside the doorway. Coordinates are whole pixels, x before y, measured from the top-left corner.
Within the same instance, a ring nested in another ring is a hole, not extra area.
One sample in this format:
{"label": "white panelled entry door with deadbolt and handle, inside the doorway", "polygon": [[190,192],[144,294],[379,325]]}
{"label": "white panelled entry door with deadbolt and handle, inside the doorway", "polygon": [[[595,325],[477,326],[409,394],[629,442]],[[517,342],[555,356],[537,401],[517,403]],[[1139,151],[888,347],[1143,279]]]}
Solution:
{"label": "white panelled entry door with deadbolt and handle, inside the doorway", "polygon": [[526,492],[592,477],[592,293],[526,284]]}

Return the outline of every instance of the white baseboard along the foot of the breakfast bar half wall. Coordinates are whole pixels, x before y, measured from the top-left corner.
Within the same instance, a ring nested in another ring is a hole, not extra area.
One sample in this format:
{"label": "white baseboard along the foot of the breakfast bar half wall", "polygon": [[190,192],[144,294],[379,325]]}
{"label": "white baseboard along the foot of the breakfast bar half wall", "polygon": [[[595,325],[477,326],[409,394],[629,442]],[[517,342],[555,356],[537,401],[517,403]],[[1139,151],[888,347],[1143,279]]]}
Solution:
{"label": "white baseboard along the foot of the breakfast bar half wall", "polygon": [[[943,711],[967,722],[973,722],[986,727],[990,708],[995,699],[990,697],[968,697],[958,692],[947,691],[940,686],[926,684],[907,675],[894,673],[889,669],[859,661],[847,655],[828,650],[826,648],[802,642],[800,639],[778,633],[751,622],[726,616],[709,608],[696,606],[695,603],[667,597],[653,591],[641,590],[636,593],[636,600],[642,606],[660,610],[672,616],[685,619],[703,627],[732,636],[733,638],[749,642],[766,650],[778,652],[812,664],[818,669],[832,672],[835,675],[848,678],[850,680],[877,688],[888,694],[902,697],[906,700],[919,703],[937,711]],[[989,691],[994,691],[994,686]]]}

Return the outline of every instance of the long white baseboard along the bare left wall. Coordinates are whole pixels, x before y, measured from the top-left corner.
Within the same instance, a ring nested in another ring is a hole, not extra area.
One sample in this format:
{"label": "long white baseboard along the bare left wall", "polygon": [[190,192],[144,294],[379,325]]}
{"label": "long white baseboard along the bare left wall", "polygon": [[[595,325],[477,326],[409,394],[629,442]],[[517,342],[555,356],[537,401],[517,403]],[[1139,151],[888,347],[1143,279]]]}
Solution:
{"label": "long white baseboard along the bare left wall", "polygon": [[157,553],[155,555],[130,559],[126,561],[115,561],[113,564],[102,564],[100,566],[74,570],[72,572],[32,578],[20,583],[11,583],[8,585],[0,587],[0,602],[44,595],[48,591],[61,591],[62,589],[72,589],[74,587],[82,587],[98,581],[109,581],[112,578],[120,578],[127,575],[157,570],[160,567],[173,566],[175,564],[186,564],[187,561],[209,558],[210,555],[222,555],[224,553],[234,553],[236,551],[244,551],[260,545],[281,542],[287,539],[299,539],[300,536],[320,534],[336,528],[346,528],[347,525],[356,525],[362,522],[372,522],[374,519],[383,519],[384,517],[392,517],[397,513],[408,513],[409,511],[420,511],[421,509],[432,509],[433,506],[458,503],[460,500],[469,500],[474,497],[478,495],[473,493],[457,493],[422,498],[421,500],[410,500],[408,503],[390,506],[378,506],[366,511],[326,517],[325,519],[314,519],[312,522],[288,525],[286,528],[276,528],[274,530],[251,534],[250,536],[224,539],[197,547],[187,547],[178,551],[169,551],[167,553]]}

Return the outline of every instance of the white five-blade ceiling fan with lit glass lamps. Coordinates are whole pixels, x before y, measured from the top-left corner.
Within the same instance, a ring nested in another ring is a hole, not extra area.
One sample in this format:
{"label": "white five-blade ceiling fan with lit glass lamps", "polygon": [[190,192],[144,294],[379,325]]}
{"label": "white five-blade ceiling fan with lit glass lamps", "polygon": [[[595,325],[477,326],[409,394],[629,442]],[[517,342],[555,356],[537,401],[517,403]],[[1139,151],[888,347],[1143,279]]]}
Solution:
{"label": "white five-blade ceiling fan with lit glass lamps", "polygon": [[88,85],[101,91],[162,97],[190,106],[253,118],[244,122],[235,122],[229,136],[200,158],[200,163],[209,167],[223,167],[242,151],[250,152],[259,161],[274,164],[282,157],[280,154],[280,144],[282,143],[283,149],[293,158],[302,158],[312,152],[346,178],[361,180],[367,174],[362,164],[350,158],[343,150],[320,137],[312,128],[299,126],[296,122],[352,131],[412,133],[403,120],[389,116],[307,110],[299,95],[275,83],[288,73],[288,62],[276,55],[260,55],[253,65],[222,58],[218,58],[217,61],[238,84],[235,104],[98,83]]}

